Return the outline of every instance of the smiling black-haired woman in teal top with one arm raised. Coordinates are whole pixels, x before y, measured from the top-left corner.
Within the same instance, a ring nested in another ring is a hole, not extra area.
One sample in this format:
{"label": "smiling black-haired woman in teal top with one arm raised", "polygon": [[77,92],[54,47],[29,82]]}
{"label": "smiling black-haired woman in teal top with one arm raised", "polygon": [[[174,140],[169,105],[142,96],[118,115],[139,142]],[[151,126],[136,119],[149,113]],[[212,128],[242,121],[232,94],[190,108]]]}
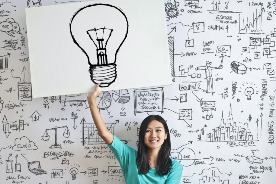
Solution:
{"label": "smiling black-haired woman in teal top with one arm raised", "polygon": [[97,108],[99,85],[88,94],[88,104],[99,136],[108,144],[122,168],[126,183],[180,183],[182,165],[170,158],[171,141],[166,121],[159,115],[146,117],[140,126],[138,151],[108,132]]}

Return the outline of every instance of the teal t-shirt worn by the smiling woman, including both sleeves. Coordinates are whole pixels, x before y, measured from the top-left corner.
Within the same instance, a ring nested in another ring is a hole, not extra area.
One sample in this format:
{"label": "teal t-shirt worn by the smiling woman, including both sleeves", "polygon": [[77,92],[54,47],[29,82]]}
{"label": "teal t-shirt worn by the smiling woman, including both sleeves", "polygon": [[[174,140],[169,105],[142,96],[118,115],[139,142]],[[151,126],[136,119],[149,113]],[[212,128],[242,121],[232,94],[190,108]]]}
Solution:
{"label": "teal t-shirt worn by the smiling woman, including both sleeves", "polygon": [[159,176],[155,168],[150,168],[146,174],[139,174],[136,165],[137,151],[120,141],[114,136],[113,142],[108,147],[113,151],[120,163],[127,184],[179,184],[182,174],[182,165],[171,158],[172,165],[167,175]]}

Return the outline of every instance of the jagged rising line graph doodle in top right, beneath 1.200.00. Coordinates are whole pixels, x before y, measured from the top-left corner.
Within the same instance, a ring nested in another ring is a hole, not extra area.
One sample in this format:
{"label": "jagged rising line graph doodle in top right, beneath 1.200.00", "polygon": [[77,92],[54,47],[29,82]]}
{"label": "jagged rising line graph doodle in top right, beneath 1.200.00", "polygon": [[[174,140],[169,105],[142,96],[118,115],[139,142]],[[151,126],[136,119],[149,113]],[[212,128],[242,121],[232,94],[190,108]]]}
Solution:
{"label": "jagged rising line graph doodle in top right, beneath 1.200.00", "polygon": [[253,16],[243,17],[241,20],[239,14],[239,34],[254,34],[256,32],[262,33],[262,14],[265,12],[265,8],[253,12]]}

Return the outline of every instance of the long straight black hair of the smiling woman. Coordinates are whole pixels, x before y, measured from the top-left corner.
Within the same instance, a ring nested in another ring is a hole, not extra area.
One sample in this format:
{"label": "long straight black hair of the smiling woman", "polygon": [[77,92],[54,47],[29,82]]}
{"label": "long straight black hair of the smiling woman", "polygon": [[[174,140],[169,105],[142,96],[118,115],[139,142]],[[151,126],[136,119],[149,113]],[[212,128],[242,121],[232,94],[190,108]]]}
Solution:
{"label": "long straight black hair of the smiling woman", "polygon": [[162,144],[157,156],[156,173],[159,174],[159,176],[162,176],[168,174],[170,166],[172,165],[172,161],[170,159],[171,139],[168,125],[166,121],[159,115],[150,115],[146,117],[141,123],[136,164],[138,166],[139,174],[146,174],[149,172],[150,165],[148,146],[144,142],[144,137],[146,134],[146,129],[152,120],[157,120],[162,123],[165,128],[165,133],[167,133],[167,139],[164,140],[164,143]]}

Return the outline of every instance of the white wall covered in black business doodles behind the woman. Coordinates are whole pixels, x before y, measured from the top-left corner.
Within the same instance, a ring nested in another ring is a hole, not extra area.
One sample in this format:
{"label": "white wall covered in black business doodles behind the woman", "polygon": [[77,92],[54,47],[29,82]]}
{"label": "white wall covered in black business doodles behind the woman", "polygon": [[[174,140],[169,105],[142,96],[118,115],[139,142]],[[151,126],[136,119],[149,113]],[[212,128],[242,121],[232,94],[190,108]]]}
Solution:
{"label": "white wall covered in black business doodles behind the woman", "polygon": [[[78,2],[0,3],[1,183],[125,183],[87,94],[31,96],[25,8]],[[141,121],[159,114],[181,182],[274,183],[276,2],[165,0],[164,15],[173,84],[102,92],[108,130],[137,148]]]}

